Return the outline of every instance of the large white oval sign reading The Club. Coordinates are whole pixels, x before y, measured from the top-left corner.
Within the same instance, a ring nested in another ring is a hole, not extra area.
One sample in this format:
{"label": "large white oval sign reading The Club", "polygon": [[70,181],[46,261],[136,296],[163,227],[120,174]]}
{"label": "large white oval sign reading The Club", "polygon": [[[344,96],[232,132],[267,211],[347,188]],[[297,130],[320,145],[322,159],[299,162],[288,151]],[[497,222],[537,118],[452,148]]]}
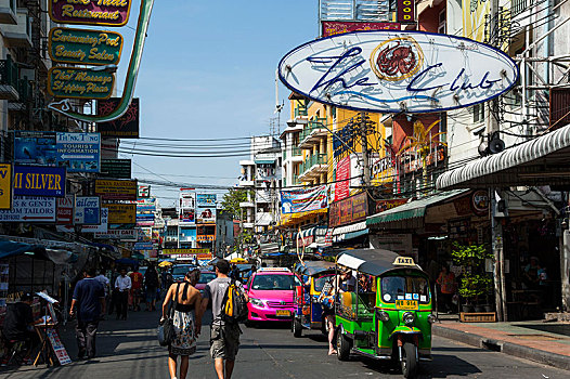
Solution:
{"label": "large white oval sign reading The Club", "polygon": [[518,78],[503,52],[470,39],[371,30],[305,43],[278,66],[292,91],[316,102],[375,113],[462,108],[496,97]]}

